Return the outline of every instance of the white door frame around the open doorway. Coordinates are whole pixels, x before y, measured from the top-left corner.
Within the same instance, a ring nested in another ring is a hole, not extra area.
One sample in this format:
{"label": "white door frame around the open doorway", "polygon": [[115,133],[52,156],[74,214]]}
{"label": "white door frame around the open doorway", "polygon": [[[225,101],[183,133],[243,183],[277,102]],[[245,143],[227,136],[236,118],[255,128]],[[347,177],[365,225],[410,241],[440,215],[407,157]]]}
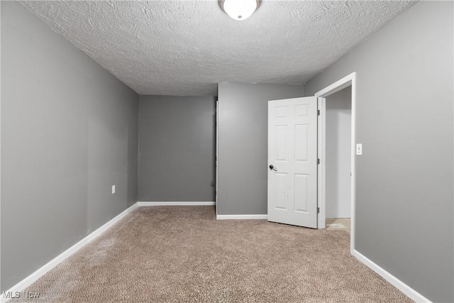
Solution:
{"label": "white door frame around the open doorway", "polygon": [[316,92],[315,96],[319,97],[319,131],[318,131],[318,153],[320,159],[319,165],[319,192],[318,192],[318,204],[320,208],[319,213],[319,228],[325,228],[326,220],[326,202],[325,202],[325,191],[326,191],[326,116],[325,116],[325,98],[339,92],[345,87],[352,87],[352,119],[351,119],[351,182],[350,182],[350,191],[351,191],[351,219],[350,219],[350,253],[353,253],[355,250],[355,187],[356,187],[356,72],[352,72],[350,75],[343,77],[339,81],[325,87],[319,92]]}

